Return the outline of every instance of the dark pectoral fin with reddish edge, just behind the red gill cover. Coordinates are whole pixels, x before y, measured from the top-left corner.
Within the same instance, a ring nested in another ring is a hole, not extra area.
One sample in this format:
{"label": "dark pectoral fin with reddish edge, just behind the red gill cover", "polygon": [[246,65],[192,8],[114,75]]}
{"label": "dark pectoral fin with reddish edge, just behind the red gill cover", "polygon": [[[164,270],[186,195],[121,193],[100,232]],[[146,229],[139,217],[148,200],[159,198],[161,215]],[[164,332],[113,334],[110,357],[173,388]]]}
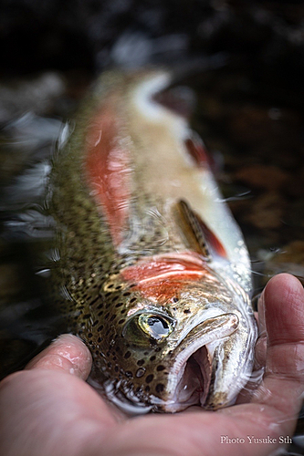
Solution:
{"label": "dark pectoral fin with reddish edge, just behind the red gill cover", "polygon": [[211,260],[212,251],[226,257],[225,248],[215,233],[208,228],[201,217],[184,200],[176,203],[176,216],[191,249],[202,254],[207,261]]}

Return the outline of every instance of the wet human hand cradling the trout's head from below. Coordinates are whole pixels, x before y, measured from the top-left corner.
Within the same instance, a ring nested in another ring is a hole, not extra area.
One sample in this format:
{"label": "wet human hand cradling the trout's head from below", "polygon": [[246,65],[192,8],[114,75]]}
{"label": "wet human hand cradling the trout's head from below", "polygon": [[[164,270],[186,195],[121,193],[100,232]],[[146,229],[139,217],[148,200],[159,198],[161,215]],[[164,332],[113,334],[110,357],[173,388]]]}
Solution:
{"label": "wet human hand cradling the trout's head from below", "polygon": [[84,381],[91,366],[89,349],[77,337],[59,337],[26,370],[0,384],[0,454],[269,454],[280,437],[292,435],[304,390],[304,290],[295,277],[277,275],[269,281],[259,303],[259,324],[259,356],[267,340],[266,370],[249,403],[131,419]]}

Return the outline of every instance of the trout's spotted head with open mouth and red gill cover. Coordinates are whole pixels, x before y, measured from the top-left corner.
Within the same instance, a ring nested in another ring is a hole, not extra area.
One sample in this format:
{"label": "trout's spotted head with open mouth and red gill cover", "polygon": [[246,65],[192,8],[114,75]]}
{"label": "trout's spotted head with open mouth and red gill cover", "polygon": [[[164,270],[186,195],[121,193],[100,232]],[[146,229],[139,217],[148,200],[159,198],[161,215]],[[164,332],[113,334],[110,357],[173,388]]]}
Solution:
{"label": "trout's spotted head with open mouth and red gill cover", "polygon": [[239,295],[207,268],[199,280],[139,280],[124,295],[123,318],[116,316],[107,341],[111,399],[114,391],[121,401],[167,412],[232,403],[252,368],[248,333],[255,333],[238,310]]}

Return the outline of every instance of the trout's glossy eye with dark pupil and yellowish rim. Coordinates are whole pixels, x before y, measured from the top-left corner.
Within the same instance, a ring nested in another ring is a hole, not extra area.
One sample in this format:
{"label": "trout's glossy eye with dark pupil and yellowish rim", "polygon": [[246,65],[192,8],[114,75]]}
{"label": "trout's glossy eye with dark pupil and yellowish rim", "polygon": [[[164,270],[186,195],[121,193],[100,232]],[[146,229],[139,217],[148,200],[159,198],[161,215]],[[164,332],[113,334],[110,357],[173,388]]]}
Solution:
{"label": "trout's glossy eye with dark pupil and yellowish rim", "polygon": [[131,344],[147,347],[151,342],[162,342],[173,331],[173,320],[155,314],[137,314],[126,323],[122,336]]}

